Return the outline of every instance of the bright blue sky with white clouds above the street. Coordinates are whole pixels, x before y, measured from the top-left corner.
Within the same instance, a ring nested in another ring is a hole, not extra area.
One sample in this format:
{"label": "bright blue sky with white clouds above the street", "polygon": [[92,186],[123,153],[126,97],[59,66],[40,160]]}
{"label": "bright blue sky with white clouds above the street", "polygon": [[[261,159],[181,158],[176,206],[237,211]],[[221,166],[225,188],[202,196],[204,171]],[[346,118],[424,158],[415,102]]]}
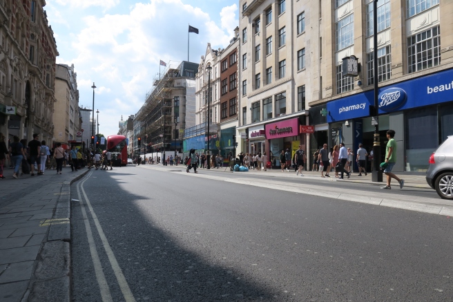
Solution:
{"label": "bright blue sky with white clouds above the street", "polygon": [[[160,60],[177,66],[200,63],[211,43],[225,48],[238,26],[238,0],[46,0],[57,41],[57,64],[74,64],[79,106],[99,110],[99,133],[117,134],[123,116],[135,115],[164,72]],[[84,129],[86,130],[86,129]]]}

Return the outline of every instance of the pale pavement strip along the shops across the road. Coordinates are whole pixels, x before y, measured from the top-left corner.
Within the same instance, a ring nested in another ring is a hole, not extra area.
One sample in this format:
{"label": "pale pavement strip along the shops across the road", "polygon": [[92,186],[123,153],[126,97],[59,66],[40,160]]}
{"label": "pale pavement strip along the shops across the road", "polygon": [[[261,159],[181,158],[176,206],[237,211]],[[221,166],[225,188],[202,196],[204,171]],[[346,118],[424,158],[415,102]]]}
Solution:
{"label": "pale pavement strip along the shops across the road", "polygon": [[[144,164],[144,166],[150,166],[150,167],[162,167],[164,169],[186,169],[186,167],[182,164],[179,164],[177,166],[164,166],[162,164]],[[197,169],[198,171],[204,171],[205,169]],[[211,171],[217,171],[217,172],[229,172],[230,171],[229,167],[223,167],[223,168],[211,168]],[[296,172],[294,172],[294,169],[290,169],[289,172],[286,170],[282,172],[281,169],[268,169],[267,171],[264,171],[263,169],[261,171],[249,169],[248,172],[233,172],[233,173],[247,173],[251,175],[269,175],[271,174],[272,176],[281,176],[281,177],[298,177],[296,176]],[[335,172],[330,172],[329,175],[331,176],[330,178],[321,178],[321,172],[317,171],[302,171],[304,174],[304,178],[317,178],[320,181],[336,181],[338,178],[335,178]],[[414,175],[412,173],[398,173],[395,172],[396,176],[399,178],[404,179],[404,187],[414,187],[414,188],[419,188],[419,189],[431,189],[430,185],[427,184],[425,174],[423,175]],[[372,181],[372,173],[368,173],[367,176],[365,174],[362,174],[362,176],[358,176],[358,172],[353,172],[351,173],[351,178],[347,179],[347,176],[345,175],[345,182],[356,182],[356,183],[363,183],[363,184],[369,184],[369,185],[378,185],[378,186],[384,186],[385,182],[387,181],[385,178],[385,174],[383,174],[383,182],[373,182]],[[341,180],[338,180],[341,181]],[[398,183],[396,180],[392,179],[392,185],[398,186]]]}

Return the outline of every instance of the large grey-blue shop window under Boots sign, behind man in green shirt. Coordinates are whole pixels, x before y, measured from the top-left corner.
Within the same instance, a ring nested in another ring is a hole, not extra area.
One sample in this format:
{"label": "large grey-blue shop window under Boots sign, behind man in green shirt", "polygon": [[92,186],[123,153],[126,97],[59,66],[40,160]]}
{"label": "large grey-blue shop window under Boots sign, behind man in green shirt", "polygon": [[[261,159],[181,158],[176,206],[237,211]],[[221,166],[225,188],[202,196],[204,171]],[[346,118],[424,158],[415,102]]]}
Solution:
{"label": "large grey-blue shop window under Boots sign, behind man in green shirt", "polygon": [[[398,133],[395,136],[396,140],[402,139],[401,136],[398,137]],[[405,113],[405,147],[406,167],[410,171],[426,171],[427,158],[438,147],[436,107],[416,108]],[[396,158],[397,162],[403,160],[404,158]]]}

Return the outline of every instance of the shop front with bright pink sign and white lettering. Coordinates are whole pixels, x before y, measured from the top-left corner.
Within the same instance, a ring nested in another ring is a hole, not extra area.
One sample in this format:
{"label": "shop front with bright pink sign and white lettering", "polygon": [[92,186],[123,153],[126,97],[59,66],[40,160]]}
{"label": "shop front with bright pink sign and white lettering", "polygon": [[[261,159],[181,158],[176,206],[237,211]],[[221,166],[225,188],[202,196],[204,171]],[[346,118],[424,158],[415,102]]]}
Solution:
{"label": "shop front with bright pink sign and white lettering", "polygon": [[305,144],[305,133],[300,135],[299,126],[299,117],[272,122],[264,126],[264,133],[269,144],[269,159],[273,167],[280,167],[282,151],[289,149],[293,156],[299,145]]}

